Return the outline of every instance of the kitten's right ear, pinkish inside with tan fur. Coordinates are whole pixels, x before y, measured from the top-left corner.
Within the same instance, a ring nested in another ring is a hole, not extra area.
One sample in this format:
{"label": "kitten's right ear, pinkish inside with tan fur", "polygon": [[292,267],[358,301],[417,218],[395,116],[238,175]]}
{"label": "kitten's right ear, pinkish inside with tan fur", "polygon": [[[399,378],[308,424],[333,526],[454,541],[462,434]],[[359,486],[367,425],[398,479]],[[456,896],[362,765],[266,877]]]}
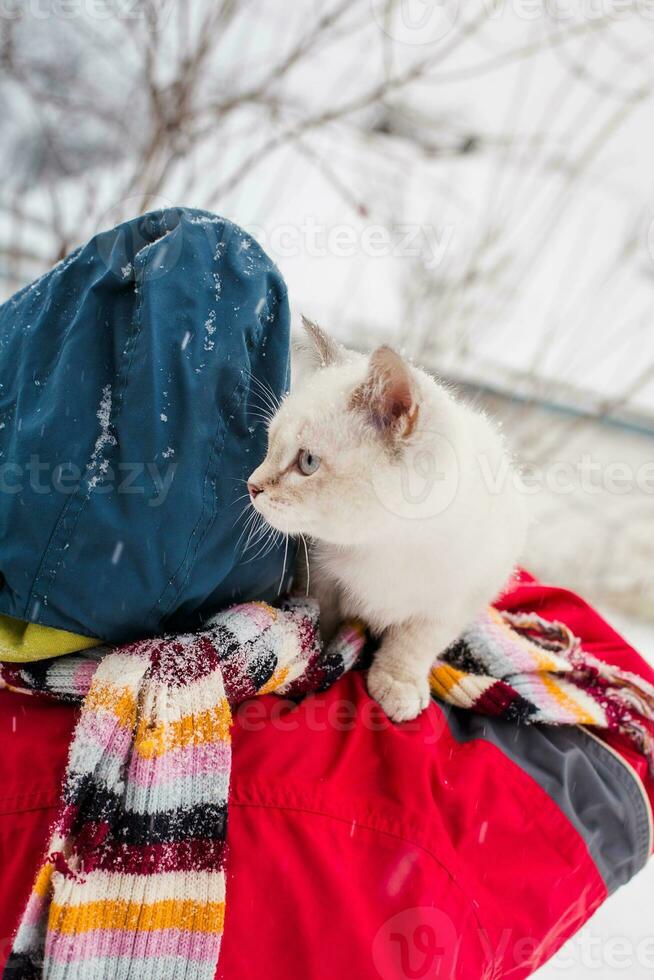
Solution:
{"label": "kitten's right ear, pinkish inside with tan fur", "polygon": [[407,438],[418,419],[418,394],[407,362],[391,347],[370,355],[368,376],[352,396],[352,407],[367,412],[375,428]]}

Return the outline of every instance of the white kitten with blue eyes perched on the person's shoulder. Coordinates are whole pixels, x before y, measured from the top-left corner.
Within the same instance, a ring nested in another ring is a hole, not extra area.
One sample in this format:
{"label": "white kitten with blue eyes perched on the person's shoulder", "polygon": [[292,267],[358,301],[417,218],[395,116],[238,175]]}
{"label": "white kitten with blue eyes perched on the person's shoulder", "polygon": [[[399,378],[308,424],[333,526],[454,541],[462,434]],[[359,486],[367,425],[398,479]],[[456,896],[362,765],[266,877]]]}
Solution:
{"label": "white kitten with blue eyes perched on the person's shoulder", "polygon": [[311,539],[323,635],[368,623],[382,636],[368,689],[395,721],[414,718],[434,659],[515,566],[523,495],[486,416],[389,347],[367,357],[304,326],[313,364],[248,487],[269,524]]}

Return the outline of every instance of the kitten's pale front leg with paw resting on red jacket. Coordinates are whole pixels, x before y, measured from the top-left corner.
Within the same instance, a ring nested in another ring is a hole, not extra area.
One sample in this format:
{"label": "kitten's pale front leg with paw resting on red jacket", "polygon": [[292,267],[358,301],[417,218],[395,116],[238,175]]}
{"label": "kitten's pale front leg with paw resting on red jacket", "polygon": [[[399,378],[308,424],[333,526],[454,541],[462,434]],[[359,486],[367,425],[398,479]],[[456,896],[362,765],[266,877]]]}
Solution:
{"label": "kitten's pale front leg with paw resting on red jacket", "polygon": [[368,671],[368,691],[392,721],[417,718],[429,704],[429,671],[456,630],[410,621],[391,626]]}

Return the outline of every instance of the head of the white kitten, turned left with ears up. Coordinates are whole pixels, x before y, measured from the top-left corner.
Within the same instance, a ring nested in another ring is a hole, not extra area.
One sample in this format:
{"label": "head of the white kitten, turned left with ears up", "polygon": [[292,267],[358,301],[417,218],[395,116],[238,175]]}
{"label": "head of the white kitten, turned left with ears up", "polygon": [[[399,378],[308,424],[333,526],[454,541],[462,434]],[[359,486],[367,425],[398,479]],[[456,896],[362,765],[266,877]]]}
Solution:
{"label": "head of the white kitten, turned left with ears up", "polygon": [[398,440],[413,429],[419,405],[393,351],[368,359],[337,350],[322,333],[311,339],[318,366],[273,418],[268,453],[248,486],[277,530],[360,543],[388,521],[378,488],[397,465]]}

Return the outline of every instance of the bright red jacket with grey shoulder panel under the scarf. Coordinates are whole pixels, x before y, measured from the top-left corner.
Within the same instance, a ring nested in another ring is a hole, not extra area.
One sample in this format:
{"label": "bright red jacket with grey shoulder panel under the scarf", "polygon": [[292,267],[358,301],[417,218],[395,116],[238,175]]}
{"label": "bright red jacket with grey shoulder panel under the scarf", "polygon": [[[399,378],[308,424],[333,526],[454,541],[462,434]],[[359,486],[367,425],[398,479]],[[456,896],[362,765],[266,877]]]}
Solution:
{"label": "bright red jacket with grey shoulder panel under the scarf", "polygon": [[[572,593],[524,576],[501,605],[654,682]],[[0,692],[0,964],[75,718]],[[361,673],[299,706],[242,705],[232,780],[222,980],[519,980],[652,851],[654,781],[625,740],[436,703],[393,725]]]}

